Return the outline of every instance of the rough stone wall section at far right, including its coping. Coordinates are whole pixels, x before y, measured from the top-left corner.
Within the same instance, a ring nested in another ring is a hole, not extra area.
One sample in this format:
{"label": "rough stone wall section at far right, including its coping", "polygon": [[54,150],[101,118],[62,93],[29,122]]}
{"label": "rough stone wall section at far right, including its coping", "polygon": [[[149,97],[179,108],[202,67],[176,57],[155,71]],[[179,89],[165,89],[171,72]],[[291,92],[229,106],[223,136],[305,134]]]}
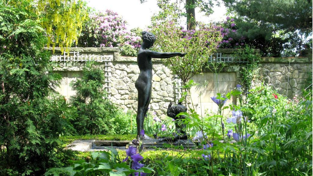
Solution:
{"label": "rough stone wall section at far right, including its coping", "polygon": [[312,58],[262,58],[256,84],[268,84],[278,93],[293,98],[312,80]]}

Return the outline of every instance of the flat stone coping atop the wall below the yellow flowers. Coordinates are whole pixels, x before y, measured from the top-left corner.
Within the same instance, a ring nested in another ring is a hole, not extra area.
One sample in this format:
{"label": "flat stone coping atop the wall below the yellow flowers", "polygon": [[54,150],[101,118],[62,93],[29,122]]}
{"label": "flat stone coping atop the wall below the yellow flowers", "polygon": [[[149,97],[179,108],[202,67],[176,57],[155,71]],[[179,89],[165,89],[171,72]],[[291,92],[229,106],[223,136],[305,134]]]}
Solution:
{"label": "flat stone coping atop the wall below the yellow flowers", "polygon": [[[52,51],[52,47],[45,47],[45,49]],[[79,51],[80,53],[101,53],[101,52],[107,52],[107,53],[118,53],[120,52],[120,49],[118,47],[69,47],[69,52],[72,51]],[[65,50],[65,48],[64,48]],[[54,48],[55,53],[61,53],[60,47]]]}

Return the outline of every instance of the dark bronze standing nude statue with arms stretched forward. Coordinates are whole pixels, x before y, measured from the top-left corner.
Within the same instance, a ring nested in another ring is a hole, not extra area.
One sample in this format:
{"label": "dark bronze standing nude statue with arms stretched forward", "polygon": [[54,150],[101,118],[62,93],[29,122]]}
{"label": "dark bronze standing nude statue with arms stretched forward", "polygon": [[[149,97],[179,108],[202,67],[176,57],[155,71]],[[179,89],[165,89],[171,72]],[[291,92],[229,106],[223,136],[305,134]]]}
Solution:
{"label": "dark bronze standing nude statue with arms stretched forward", "polygon": [[[156,40],[154,34],[143,31],[141,33],[142,44],[138,50],[137,63],[140,70],[138,79],[135,82],[138,90],[138,109],[137,109],[137,138],[143,129],[143,122],[148,111],[148,106],[151,100],[152,86],[152,61],[151,58],[170,58],[174,56],[183,57],[185,53],[160,53],[149,50]],[[141,139],[148,139],[148,136],[141,136]]]}

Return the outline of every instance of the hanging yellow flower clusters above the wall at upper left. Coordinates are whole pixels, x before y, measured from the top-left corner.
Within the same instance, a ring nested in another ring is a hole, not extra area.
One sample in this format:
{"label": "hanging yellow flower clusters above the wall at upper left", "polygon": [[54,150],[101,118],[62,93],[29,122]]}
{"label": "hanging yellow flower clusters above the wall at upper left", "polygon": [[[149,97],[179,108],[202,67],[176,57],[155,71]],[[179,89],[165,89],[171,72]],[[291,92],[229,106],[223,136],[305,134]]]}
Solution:
{"label": "hanging yellow flower clusters above the wall at upper left", "polygon": [[78,41],[82,25],[88,18],[88,10],[79,0],[38,0],[38,16],[48,36],[47,46],[61,47],[62,53]]}

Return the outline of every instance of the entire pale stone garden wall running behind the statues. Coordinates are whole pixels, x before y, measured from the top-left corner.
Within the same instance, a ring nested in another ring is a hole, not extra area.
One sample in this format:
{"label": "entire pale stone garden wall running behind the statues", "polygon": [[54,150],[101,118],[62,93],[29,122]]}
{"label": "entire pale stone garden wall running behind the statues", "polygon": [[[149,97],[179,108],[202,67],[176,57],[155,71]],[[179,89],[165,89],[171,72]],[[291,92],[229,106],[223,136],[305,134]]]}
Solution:
{"label": "entire pale stone garden wall running behind the statues", "polygon": [[[79,51],[80,57],[89,57],[91,60],[98,60],[100,68],[105,72],[107,79],[107,91],[110,99],[118,104],[123,110],[137,110],[137,90],[135,81],[139,75],[139,68],[136,57],[121,57],[117,48],[71,48],[70,51]],[[220,49],[230,55],[233,49]],[[54,56],[60,55],[60,49],[56,48]],[[77,54],[76,54],[77,56]],[[87,58],[88,58],[87,57]],[[58,58],[58,57],[57,57]],[[66,57],[64,57],[66,58]],[[54,71],[62,75],[62,83],[58,91],[69,98],[75,92],[69,86],[70,81],[80,78],[84,61],[74,60],[74,54],[69,54],[68,61],[58,61]],[[104,60],[103,62],[101,61]],[[265,84],[272,85],[281,94],[293,96],[300,95],[301,89],[305,88],[308,78],[312,78],[312,58],[262,58],[259,66],[259,74],[255,75],[253,85]],[[62,58],[61,58],[62,60]],[[160,59],[153,59],[152,95],[150,111],[155,111],[160,117],[166,116],[167,106],[170,101],[174,101],[177,94],[175,83],[177,80],[171,71],[162,63]],[[227,93],[240,84],[241,64],[228,63],[217,79],[214,74],[204,69],[203,74],[195,75],[192,79],[198,86],[192,87],[192,101],[196,105],[198,113],[205,111],[216,111],[217,106],[211,100],[211,96],[216,93]],[[288,85],[288,91],[287,91]],[[235,103],[236,99],[231,98],[227,101]],[[201,106],[200,106],[201,105]]]}

